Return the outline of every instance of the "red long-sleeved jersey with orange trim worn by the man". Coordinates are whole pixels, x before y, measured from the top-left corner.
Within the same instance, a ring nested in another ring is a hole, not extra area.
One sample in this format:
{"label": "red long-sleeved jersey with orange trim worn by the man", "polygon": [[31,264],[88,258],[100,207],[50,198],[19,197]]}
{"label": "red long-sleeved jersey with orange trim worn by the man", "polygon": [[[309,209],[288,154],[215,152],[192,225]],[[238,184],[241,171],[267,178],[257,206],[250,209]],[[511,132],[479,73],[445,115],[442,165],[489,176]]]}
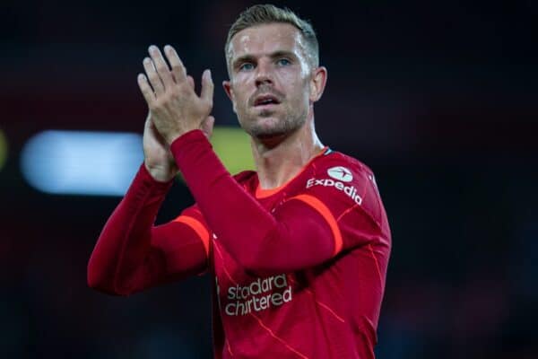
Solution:
{"label": "red long-sleeved jersey with orange trim worn by the man", "polygon": [[204,134],[171,145],[196,205],[154,226],[172,182],[142,165],[88,265],[127,295],[209,271],[216,358],[374,357],[391,239],[372,172],[325,148],[281,188],[231,177]]}

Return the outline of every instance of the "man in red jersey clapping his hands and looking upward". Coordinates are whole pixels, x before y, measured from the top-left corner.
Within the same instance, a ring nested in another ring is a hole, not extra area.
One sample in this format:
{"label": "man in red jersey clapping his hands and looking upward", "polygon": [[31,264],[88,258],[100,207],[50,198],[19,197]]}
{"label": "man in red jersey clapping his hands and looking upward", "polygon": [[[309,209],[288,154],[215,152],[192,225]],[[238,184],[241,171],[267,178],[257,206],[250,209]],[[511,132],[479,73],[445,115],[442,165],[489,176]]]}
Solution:
{"label": "man in red jersey clapping his hands and looking upward", "polygon": [[[257,171],[232,177],[213,153],[211,73],[197,96],[175,50],[150,47],[144,163],[100,234],[89,285],[127,295],[207,271],[215,357],[373,358],[390,232],[372,172],[317,138],[327,71],[316,35],[256,5],[225,49],[223,87]],[[178,170],[196,204],[154,226]]]}

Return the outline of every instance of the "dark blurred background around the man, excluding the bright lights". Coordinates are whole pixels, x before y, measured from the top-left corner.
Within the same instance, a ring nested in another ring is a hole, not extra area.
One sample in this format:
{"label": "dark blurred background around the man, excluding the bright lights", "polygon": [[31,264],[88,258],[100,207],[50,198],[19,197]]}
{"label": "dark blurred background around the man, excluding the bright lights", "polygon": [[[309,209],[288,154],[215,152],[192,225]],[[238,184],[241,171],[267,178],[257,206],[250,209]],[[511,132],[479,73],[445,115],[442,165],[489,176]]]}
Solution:
{"label": "dark blurred background around the man, excluding the bright lights", "polygon": [[[210,278],[92,291],[88,258],[120,197],[42,193],[21,153],[47,129],[142,134],[151,44],[218,85],[250,4],[0,4],[0,357],[211,357]],[[394,241],[378,357],[538,358],[538,2],[274,4],[317,30],[322,141],[377,173]],[[237,126],[219,86],[213,114]],[[178,182],[157,222],[191,203]]]}

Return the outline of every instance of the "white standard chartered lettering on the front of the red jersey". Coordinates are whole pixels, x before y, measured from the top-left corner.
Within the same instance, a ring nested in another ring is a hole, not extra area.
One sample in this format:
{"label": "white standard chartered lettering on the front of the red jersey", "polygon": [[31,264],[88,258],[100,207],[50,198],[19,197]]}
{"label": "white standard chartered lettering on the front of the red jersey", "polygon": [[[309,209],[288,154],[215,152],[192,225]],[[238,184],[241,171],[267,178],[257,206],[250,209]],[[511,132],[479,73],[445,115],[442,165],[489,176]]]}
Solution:
{"label": "white standard chartered lettering on the front of the red jersey", "polygon": [[257,278],[249,285],[230,286],[224,312],[230,316],[246,315],[253,311],[265,311],[291,302],[291,285],[285,274]]}

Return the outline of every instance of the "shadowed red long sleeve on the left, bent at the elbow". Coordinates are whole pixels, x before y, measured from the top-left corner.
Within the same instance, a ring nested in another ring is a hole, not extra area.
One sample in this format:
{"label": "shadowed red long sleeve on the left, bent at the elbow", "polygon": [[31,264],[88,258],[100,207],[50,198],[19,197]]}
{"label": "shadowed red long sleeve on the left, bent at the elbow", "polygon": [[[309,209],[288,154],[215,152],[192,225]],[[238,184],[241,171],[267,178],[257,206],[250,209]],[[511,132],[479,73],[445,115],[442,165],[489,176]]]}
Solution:
{"label": "shadowed red long sleeve on the left, bent at the elbow", "polygon": [[91,253],[88,285],[127,295],[204,271],[209,235],[192,207],[153,225],[171,185],[153,180],[141,165]]}

